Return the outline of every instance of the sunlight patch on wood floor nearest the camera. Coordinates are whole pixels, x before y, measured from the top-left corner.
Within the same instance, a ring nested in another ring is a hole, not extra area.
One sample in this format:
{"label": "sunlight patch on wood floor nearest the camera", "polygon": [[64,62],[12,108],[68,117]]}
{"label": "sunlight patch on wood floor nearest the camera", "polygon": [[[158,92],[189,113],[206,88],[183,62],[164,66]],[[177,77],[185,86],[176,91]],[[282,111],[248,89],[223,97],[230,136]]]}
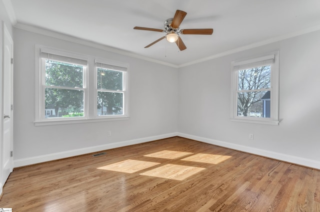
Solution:
{"label": "sunlight patch on wood floor nearest the camera", "polygon": [[153,168],[151,170],[140,173],[140,175],[155,176],[167,179],[183,180],[189,176],[192,176],[205,168],[166,164],[160,167]]}

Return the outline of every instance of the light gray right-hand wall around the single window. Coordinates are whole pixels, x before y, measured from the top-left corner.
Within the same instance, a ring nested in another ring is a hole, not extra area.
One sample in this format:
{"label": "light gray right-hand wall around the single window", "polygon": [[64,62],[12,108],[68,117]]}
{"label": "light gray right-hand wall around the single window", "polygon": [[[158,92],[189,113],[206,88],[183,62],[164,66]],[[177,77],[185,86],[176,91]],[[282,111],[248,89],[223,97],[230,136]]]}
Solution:
{"label": "light gray right-hand wall around the single window", "polygon": [[[319,37],[315,31],[180,68],[179,135],[320,168]],[[231,61],[275,50],[279,125],[231,122]]]}

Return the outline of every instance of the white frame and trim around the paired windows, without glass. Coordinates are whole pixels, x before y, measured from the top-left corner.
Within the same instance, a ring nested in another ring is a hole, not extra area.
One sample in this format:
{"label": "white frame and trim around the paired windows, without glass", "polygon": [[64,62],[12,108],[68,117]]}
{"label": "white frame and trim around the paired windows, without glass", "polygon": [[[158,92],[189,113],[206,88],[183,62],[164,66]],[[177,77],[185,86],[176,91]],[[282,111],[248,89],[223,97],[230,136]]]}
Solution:
{"label": "white frame and trim around the paired windows, without glass", "polygon": [[[61,57],[86,60],[86,68],[83,69],[83,112],[84,116],[78,117],[54,117],[45,118],[44,111],[44,85],[45,85],[45,64],[41,58],[41,52],[55,54]],[[125,89],[125,98],[123,99],[123,114],[121,115],[97,115],[97,92],[96,92],[96,67],[95,61],[101,61],[110,66],[120,66],[125,68],[123,76],[123,89]],[[128,101],[128,64],[113,60],[98,59],[95,60],[92,55],[78,54],[67,50],[56,49],[53,47],[35,45],[35,120],[34,125],[55,125],[70,123],[100,122],[109,120],[129,119],[129,101]]]}

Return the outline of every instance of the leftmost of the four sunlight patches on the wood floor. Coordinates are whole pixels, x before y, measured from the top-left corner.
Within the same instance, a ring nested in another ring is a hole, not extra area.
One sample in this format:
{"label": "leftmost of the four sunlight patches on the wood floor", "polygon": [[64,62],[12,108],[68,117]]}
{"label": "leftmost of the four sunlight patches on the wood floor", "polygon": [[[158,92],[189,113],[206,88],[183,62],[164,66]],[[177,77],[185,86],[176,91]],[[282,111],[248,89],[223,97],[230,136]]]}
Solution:
{"label": "leftmost of the four sunlight patches on the wood floor", "polygon": [[142,160],[127,159],[120,162],[115,162],[109,165],[98,167],[98,169],[110,170],[110,171],[120,171],[125,173],[134,173],[139,170],[152,167],[154,165],[160,164],[159,162],[148,162]]}

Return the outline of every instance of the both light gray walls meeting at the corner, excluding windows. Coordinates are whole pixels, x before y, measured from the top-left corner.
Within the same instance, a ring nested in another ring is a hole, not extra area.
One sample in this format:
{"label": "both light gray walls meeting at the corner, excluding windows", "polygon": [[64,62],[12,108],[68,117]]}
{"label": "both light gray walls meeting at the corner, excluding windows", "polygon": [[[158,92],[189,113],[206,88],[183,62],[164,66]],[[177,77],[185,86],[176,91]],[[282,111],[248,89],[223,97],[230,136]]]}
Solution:
{"label": "both light gray walls meeting at the corner, excluding windows", "polygon": [[[180,68],[19,28],[13,33],[15,166],[180,135],[320,168],[320,31]],[[34,126],[35,44],[128,63],[130,119]],[[231,61],[275,50],[279,125],[231,122]]]}

